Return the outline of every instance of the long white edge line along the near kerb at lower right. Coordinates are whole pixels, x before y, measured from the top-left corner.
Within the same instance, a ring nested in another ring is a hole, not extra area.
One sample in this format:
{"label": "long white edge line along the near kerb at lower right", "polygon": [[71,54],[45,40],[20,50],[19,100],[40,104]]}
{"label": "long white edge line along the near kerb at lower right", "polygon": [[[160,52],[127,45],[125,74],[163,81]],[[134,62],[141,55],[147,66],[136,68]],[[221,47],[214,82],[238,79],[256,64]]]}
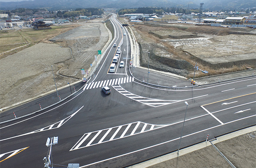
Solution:
{"label": "long white edge line along the near kerb at lower right", "polygon": [[[256,114],[255,114],[255,115],[252,115],[252,116],[245,117],[245,118],[241,118],[241,119],[238,119],[238,120],[244,120],[244,119],[246,119],[246,118],[250,118],[250,117],[254,117],[254,116],[256,116]],[[231,122],[227,122],[227,123],[225,123],[225,125],[226,125],[226,124],[230,124],[230,123],[232,123],[232,122],[236,122],[236,121],[238,121],[238,120],[234,120],[234,121],[231,121]],[[183,122],[183,121],[182,121],[182,122]],[[217,126],[213,126],[213,127],[210,127],[210,128],[206,128],[206,129],[204,129],[204,130],[201,130],[201,131],[198,131],[198,132],[194,132],[194,133],[188,134],[188,135],[186,135],[186,136],[182,136],[182,138],[187,137],[187,136],[191,136],[191,135],[194,135],[194,134],[198,134],[198,133],[200,133],[200,132],[204,132],[204,131],[207,131],[207,130],[211,130],[211,129],[217,128],[217,127],[219,127],[219,126],[223,126],[223,125],[220,124],[220,125],[217,125]],[[136,152],[140,152],[140,151],[143,151],[143,150],[146,150],[146,149],[154,148],[154,147],[156,147],[156,146],[160,146],[160,145],[163,145],[163,144],[167,144],[167,143],[170,143],[170,142],[172,142],[172,141],[174,141],[174,140],[179,140],[179,139],[180,139],[180,137],[175,138],[175,139],[172,139],[172,140],[168,140],[168,141],[166,141],[166,142],[162,142],[162,143],[160,143],[160,144],[155,144],[155,145],[152,145],[152,146],[148,146],[148,147],[146,147],[146,148],[142,148],[142,149],[139,149],[139,150],[135,150],[135,151],[132,151],[132,152],[128,152],[128,153],[126,153],[126,154],[122,154],[122,155],[114,156],[114,157],[112,157],[112,158],[108,158],[108,159],[105,159],[105,160],[100,160],[100,161],[98,161],[98,162],[90,163],[90,164],[81,166],[80,168],[85,168],[85,167],[87,167],[87,166],[91,166],[91,165],[94,165],[94,164],[106,162],[106,161],[108,161],[108,160],[120,158],[120,157],[122,157],[122,156],[126,156],[126,155],[129,155],[129,154],[134,154],[134,153],[136,153]]]}

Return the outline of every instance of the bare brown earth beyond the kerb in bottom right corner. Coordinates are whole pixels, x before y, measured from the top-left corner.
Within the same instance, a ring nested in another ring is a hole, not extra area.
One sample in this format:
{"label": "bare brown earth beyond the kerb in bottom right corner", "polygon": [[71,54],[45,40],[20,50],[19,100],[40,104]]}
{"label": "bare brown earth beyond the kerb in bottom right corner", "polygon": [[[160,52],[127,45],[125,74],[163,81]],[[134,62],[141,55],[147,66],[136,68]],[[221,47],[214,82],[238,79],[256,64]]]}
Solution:
{"label": "bare brown earth beyond the kerb in bottom right corner", "polygon": [[[219,142],[215,146],[236,168],[255,168],[255,135],[256,132],[251,132]],[[213,146],[208,146],[148,168],[232,168],[232,166]]]}

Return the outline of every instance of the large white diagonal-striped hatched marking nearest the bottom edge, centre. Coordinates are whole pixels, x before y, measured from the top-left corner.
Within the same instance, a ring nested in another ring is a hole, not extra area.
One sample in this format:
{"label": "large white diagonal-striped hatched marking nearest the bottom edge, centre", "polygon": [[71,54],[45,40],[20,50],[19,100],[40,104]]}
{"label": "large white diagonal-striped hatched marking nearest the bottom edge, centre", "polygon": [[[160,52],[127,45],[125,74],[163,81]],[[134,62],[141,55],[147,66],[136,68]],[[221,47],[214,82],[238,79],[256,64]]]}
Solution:
{"label": "large white diagonal-striped hatched marking nearest the bottom edge, centre", "polygon": [[76,144],[70,149],[70,151],[77,150],[80,148],[86,148],[88,146],[93,146],[105,142],[110,142],[112,140],[118,140],[128,136],[134,136],[136,134],[141,134],[143,132],[156,130],[158,128],[163,128],[166,126],[170,125],[155,125],[138,121],[129,124],[124,124],[121,126],[107,128],[104,130],[88,132],[84,134],[78,140],[78,142],[76,142]]}

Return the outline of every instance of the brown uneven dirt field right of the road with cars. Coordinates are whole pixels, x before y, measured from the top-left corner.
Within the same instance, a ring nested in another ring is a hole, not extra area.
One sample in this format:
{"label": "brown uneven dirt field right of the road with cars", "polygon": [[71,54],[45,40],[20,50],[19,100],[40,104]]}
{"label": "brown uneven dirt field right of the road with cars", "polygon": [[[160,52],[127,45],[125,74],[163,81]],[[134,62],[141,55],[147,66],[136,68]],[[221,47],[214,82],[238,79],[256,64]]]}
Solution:
{"label": "brown uneven dirt field right of the road with cars", "polygon": [[140,45],[140,64],[191,77],[194,65],[209,73],[245,70],[256,66],[256,33],[250,28],[223,28],[193,24],[134,23]]}

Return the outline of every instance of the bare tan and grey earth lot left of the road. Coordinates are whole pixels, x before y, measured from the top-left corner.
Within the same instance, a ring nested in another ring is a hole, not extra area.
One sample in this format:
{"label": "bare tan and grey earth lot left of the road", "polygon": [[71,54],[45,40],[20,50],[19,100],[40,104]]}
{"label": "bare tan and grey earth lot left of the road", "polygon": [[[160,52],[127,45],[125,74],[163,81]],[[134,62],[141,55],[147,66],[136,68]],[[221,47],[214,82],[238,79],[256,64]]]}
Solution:
{"label": "bare tan and grey earth lot left of the road", "polygon": [[90,67],[109,35],[102,22],[94,20],[80,25],[51,41],[0,59],[0,108],[54,90],[51,66],[57,87],[82,78],[80,69]]}

